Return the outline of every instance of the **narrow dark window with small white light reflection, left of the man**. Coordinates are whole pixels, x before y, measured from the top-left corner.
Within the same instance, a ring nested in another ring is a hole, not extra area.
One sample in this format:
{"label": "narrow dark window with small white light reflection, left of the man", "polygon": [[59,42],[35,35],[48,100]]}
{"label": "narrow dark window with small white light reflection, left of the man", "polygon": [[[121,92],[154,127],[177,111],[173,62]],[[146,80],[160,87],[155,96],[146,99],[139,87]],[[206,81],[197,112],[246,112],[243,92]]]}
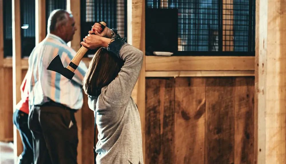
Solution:
{"label": "narrow dark window with small white light reflection, left of the man", "polygon": [[29,56],[35,47],[35,0],[20,1],[21,52]]}

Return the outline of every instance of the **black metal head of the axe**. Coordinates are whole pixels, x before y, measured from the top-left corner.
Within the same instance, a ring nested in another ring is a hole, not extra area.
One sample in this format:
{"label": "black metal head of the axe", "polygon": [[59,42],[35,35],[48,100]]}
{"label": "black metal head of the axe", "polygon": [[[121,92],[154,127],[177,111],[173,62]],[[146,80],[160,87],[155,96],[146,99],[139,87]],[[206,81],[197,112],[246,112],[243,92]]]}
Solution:
{"label": "black metal head of the axe", "polygon": [[51,62],[49,63],[49,65],[47,67],[47,70],[55,71],[55,72],[65,76],[69,80],[72,80],[72,78],[74,77],[74,72],[65,68],[63,66],[63,64],[61,63],[61,58],[59,57],[59,54],[57,54],[57,56],[55,56],[51,60]]}

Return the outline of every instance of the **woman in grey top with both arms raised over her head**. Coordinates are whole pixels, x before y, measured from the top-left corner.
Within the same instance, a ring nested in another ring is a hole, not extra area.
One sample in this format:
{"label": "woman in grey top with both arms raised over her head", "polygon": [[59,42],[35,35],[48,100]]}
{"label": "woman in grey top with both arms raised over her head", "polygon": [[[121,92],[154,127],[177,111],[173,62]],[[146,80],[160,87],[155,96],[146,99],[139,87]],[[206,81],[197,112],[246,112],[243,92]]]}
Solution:
{"label": "woman in grey top with both arms raised over her head", "polygon": [[99,48],[83,84],[98,128],[96,163],[142,164],[140,116],[131,92],[142,67],[143,52],[127,44],[116,31],[102,30],[99,23],[89,33],[82,46]]}

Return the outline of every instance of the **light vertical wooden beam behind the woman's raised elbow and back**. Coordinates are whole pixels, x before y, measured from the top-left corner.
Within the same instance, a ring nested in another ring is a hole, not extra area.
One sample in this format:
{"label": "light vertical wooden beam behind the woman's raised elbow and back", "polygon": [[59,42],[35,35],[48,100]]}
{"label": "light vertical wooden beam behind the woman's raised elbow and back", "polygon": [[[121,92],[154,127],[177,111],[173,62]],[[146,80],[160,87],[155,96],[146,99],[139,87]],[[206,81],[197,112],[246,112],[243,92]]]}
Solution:
{"label": "light vertical wooden beam behind the woman's raised elbow and back", "polygon": [[[127,0],[127,11],[127,42],[145,54],[145,0]],[[143,158],[145,161],[145,55],[132,97],[137,103],[140,113]]]}

